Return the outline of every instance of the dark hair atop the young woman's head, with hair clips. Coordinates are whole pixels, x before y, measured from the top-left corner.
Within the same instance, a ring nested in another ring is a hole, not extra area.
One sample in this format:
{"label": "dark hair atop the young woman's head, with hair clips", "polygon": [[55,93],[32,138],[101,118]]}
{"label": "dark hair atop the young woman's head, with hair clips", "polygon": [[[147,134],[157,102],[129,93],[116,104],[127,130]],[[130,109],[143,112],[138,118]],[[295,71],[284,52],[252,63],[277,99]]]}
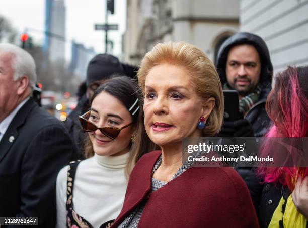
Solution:
{"label": "dark hair atop the young woman's head, with hair clips", "polygon": [[138,120],[140,95],[136,83],[127,76],[117,76],[105,81],[94,92],[90,104],[101,92],[108,92],[117,98],[131,113],[133,122]]}

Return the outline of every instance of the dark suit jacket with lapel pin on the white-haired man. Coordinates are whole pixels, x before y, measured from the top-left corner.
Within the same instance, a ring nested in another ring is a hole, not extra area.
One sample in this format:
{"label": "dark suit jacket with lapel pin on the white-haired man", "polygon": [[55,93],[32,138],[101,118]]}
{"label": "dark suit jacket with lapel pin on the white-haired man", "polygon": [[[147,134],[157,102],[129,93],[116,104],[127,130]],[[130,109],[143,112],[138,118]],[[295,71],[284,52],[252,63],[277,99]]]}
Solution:
{"label": "dark suit jacket with lapel pin on the white-haired man", "polygon": [[73,149],[64,125],[30,98],[0,141],[0,217],[38,217],[39,227],[54,227],[56,176]]}

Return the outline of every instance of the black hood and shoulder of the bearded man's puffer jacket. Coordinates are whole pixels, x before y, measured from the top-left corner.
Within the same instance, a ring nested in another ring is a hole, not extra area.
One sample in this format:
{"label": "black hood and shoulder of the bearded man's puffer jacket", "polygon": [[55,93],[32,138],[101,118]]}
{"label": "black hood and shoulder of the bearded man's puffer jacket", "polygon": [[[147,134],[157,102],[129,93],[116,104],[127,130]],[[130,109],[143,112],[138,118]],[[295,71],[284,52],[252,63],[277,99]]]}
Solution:
{"label": "black hood and shoulder of the bearded man's puffer jacket", "polygon": [[230,48],[241,45],[251,44],[259,53],[261,59],[261,75],[259,83],[262,84],[260,100],[248,110],[245,115],[254,130],[255,137],[262,137],[270,127],[271,121],[265,111],[266,98],[271,90],[271,80],[273,75],[273,65],[271,63],[268,48],[261,37],[251,33],[237,33],[229,37],[220,47],[217,55],[216,68],[222,84],[227,82],[225,67]]}

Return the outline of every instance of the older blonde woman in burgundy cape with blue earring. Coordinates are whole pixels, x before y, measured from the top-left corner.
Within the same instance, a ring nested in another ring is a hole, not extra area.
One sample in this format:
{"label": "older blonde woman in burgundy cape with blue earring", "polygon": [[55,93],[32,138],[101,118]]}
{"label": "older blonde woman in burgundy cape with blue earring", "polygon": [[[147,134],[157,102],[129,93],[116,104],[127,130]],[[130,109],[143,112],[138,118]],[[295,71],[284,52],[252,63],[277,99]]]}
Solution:
{"label": "older blonde woman in burgundy cape with blue earring", "polygon": [[232,168],[182,165],[184,137],[210,137],[221,127],[223,95],[210,60],[184,42],[158,44],[138,79],[145,130],[161,151],[137,162],[113,227],[258,227],[248,189]]}

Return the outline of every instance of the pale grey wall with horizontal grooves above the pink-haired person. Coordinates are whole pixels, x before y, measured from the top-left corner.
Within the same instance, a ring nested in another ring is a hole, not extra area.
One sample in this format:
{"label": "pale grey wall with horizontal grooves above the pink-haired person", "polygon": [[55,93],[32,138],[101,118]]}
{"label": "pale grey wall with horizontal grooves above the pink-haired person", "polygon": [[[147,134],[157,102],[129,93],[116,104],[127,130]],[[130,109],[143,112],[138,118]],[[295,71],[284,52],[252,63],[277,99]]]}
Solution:
{"label": "pale grey wall with horizontal grooves above the pink-haired person", "polygon": [[308,64],[308,1],[241,0],[241,31],[261,36],[270,50],[274,73]]}

